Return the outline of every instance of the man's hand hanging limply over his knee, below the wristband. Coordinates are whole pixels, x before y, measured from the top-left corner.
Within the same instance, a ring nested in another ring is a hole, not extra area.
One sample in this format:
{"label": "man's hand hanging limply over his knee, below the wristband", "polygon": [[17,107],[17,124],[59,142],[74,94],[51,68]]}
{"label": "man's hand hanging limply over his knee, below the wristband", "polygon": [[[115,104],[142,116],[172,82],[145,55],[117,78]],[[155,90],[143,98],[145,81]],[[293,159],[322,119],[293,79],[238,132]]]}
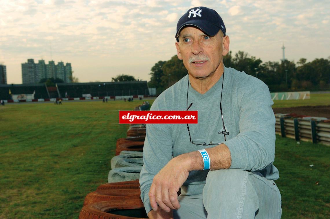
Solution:
{"label": "man's hand hanging limply over his knee, below the wristband", "polygon": [[155,175],[149,191],[150,205],[154,211],[158,208],[157,203],[166,212],[180,208],[178,191],[188,178],[190,162],[187,154],[179,155]]}

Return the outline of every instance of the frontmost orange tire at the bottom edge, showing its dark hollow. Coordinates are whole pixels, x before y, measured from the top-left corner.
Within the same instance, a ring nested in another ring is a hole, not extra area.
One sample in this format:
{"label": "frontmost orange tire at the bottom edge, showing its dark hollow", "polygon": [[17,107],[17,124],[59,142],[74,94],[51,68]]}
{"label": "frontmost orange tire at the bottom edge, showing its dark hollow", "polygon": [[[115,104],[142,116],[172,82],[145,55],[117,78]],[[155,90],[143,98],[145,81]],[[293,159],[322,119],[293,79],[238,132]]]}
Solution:
{"label": "frontmost orange tire at the bottom edge, showing its dark hollow", "polygon": [[[109,213],[108,213],[109,212]],[[127,215],[127,216],[124,216]],[[130,216],[128,216],[130,215]],[[148,218],[141,199],[101,201],[82,207],[79,219],[141,219]]]}

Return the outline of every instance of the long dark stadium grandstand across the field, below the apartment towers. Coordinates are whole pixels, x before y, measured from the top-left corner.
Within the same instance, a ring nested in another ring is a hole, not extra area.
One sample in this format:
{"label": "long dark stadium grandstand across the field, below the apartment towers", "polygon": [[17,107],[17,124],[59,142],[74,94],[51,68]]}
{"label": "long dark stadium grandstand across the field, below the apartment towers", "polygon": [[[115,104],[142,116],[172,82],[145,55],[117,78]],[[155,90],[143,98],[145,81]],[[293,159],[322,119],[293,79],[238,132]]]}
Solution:
{"label": "long dark stadium grandstand across the field, below the apartment towers", "polygon": [[147,81],[58,83],[46,84],[0,84],[0,99],[12,100],[15,95],[34,94],[33,99],[148,96]]}

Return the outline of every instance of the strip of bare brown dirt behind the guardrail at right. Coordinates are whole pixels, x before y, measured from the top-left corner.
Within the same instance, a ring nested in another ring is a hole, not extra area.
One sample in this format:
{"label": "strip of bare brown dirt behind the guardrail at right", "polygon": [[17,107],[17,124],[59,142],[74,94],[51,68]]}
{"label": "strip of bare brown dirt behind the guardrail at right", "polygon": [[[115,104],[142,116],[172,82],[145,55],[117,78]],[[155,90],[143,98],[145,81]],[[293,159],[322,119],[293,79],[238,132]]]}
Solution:
{"label": "strip of bare brown dirt behind the guardrail at right", "polygon": [[330,118],[330,106],[305,106],[290,108],[275,108],[274,113],[296,113],[297,115],[318,116]]}

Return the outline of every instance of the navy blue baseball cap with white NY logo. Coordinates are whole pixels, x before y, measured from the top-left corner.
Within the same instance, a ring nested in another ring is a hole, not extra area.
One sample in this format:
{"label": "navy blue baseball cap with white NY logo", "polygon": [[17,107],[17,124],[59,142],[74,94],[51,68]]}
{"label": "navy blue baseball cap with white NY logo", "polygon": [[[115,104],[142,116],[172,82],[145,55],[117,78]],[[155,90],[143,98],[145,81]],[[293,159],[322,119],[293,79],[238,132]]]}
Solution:
{"label": "navy blue baseball cap with white NY logo", "polygon": [[226,35],[226,27],[220,15],[207,7],[195,7],[189,9],[178,21],[175,38],[179,42],[179,35],[185,26],[196,26],[209,36],[215,36],[219,30]]}

